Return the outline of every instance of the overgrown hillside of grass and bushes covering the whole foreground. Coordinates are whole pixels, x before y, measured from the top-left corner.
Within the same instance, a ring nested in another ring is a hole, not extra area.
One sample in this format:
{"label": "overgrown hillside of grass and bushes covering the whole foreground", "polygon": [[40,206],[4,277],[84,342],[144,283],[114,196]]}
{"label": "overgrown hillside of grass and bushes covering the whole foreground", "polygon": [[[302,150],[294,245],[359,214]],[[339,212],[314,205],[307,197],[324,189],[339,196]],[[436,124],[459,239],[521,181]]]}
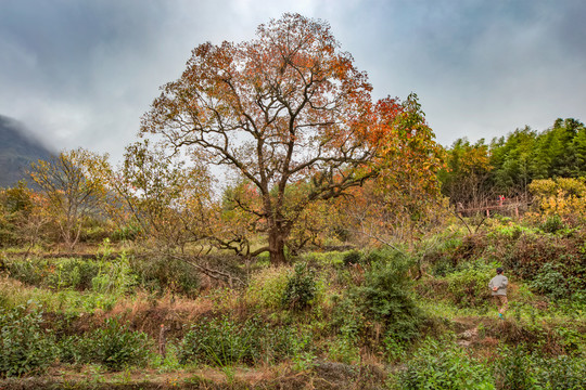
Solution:
{"label": "overgrown hillside of grass and bushes covering the whole foreground", "polygon": [[[112,250],[106,242],[94,259],[1,255],[0,377],[148,370],[182,373],[163,387],[214,388],[193,379],[208,367],[238,389],[245,367],[303,374],[289,376],[296,388],[584,389],[578,227],[494,219],[410,251],[313,251],[278,268],[230,259],[225,272],[246,283],[238,287],[171,258]],[[505,321],[487,289],[496,266],[510,278]],[[252,388],[278,386],[286,388]]]}

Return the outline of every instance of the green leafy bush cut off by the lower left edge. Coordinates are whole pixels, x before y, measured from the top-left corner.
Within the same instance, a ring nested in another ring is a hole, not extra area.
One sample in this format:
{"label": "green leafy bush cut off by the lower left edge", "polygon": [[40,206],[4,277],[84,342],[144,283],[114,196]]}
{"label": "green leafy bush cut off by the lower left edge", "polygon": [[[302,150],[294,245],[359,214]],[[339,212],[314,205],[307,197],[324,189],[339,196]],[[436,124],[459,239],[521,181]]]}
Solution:
{"label": "green leafy bush cut off by the lower left edge", "polygon": [[0,309],[0,377],[42,372],[54,361],[54,339],[42,323],[39,311]]}

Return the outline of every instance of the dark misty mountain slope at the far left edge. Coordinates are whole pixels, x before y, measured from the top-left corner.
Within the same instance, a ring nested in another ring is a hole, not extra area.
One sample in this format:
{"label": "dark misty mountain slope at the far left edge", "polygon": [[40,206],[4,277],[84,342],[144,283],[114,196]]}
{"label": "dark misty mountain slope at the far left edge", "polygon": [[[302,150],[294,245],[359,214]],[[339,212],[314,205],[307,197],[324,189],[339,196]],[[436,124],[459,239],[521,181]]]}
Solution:
{"label": "dark misty mountain slope at the far left edge", "polygon": [[0,115],[0,187],[25,179],[30,162],[52,154],[24,125]]}

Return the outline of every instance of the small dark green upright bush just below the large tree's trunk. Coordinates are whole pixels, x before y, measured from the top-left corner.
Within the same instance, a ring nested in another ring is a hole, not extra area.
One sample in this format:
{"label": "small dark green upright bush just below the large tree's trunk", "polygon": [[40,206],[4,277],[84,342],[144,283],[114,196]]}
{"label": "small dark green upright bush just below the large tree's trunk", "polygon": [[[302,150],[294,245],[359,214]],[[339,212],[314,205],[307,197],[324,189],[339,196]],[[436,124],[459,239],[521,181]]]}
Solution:
{"label": "small dark green upright bush just below the large tree's trunk", "polygon": [[291,310],[308,308],[317,292],[317,282],[313,270],[307,264],[295,264],[294,273],[289,277],[281,299],[282,304]]}

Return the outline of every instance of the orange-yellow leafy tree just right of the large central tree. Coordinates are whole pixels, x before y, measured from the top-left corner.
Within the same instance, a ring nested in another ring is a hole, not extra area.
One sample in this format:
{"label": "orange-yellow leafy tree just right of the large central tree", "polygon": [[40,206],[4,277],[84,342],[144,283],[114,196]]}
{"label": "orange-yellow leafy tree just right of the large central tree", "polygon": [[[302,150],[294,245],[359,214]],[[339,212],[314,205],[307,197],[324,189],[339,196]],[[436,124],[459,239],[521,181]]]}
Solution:
{"label": "orange-yellow leafy tree just right of the large central tree", "polygon": [[378,138],[384,153],[378,177],[352,188],[348,196],[335,203],[335,222],[344,230],[359,233],[367,243],[409,243],[421,238],[429,227],[437,225],[442,209],[437,172],[444,153],[411,94],[407,100],[386,99],[377,105]]}

